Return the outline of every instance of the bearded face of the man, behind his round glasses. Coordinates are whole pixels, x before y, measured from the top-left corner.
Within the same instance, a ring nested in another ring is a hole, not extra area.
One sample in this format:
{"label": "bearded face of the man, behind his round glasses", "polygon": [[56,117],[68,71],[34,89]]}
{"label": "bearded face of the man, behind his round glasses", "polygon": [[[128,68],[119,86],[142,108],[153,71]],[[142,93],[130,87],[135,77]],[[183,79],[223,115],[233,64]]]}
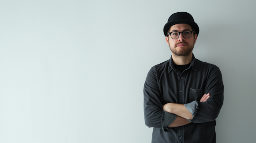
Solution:
{"label": "bearded face of the man, behind his round glasses", "polygon": [[[192,31],[192,28],[188,24],[175,24],[170,27],[168,33],[173,31]],[[196,43],[197,35],[194,35],[192,33],[191,37],[184,38],[182,33],[180,33],[178,39],[172,39],[170,35],[168,35],[168,37],[166,37],[165,39],[172,51],[172,54],[177,56],[189,56],[190,54],[192,54],[194,44]]]}

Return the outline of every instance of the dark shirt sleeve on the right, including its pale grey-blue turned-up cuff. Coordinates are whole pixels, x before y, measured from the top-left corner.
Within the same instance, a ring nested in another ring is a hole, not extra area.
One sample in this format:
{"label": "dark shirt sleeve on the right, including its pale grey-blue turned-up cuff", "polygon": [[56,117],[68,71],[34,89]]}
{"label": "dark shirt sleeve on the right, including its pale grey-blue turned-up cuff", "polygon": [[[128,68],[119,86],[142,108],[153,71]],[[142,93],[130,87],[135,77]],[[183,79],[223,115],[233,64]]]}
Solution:
{"label": "dark shirt sleeve on the right, including its pale grey-blue turned-up cuff", "polygon": [[[194,123],[203,123],[214,121],[223,104],[224,99],[224,86],[222,82],[222,74],[218,67],[214,67],[209,74],[204,92],[210,93],[210,98],[206,102],[193,101],[185,107],[192,111],[193,119],[188,120]],[[196,106],[196,103],[198,104]]]}

